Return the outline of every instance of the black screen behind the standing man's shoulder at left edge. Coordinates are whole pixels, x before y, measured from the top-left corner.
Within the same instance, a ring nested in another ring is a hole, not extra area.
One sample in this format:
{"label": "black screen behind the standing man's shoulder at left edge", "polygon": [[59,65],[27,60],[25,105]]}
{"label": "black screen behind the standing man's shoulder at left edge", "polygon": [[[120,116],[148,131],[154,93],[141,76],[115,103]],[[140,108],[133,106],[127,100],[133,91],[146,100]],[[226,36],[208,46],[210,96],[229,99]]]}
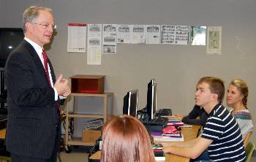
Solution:
{"label": "black screen behind the standing man's shoulder at left edge", "polygon": [[22,28],[0,28],[0,68],[4,68],[8,56],[23,39]]}

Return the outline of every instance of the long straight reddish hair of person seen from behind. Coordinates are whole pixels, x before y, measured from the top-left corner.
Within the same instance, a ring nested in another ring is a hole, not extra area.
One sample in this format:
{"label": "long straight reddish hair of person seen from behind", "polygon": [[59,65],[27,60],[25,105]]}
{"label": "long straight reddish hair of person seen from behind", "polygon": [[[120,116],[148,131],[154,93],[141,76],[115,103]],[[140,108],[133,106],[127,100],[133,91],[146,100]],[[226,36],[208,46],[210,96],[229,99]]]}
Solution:
{"label": "long straight reddish hair of person seen from behind", "polygon": [[155,161],[148,131],[135,117],[113,117],[103,126],[102,141],[102,162]]}

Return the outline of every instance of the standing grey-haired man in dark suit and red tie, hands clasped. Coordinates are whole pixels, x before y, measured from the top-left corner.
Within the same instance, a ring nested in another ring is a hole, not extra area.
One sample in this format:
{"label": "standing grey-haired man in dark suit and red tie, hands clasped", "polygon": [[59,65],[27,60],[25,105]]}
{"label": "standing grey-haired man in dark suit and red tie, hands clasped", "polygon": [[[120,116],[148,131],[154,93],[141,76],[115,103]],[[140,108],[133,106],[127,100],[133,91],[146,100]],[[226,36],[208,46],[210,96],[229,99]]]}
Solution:
{"label": "standing grey-haired man in dark suit and red tie, hands clasped", "polygon": [[61,135],[59,99],[68,96],[70,88],[62,75],[56,80],[43,50],[54,28],[51,9],[26,9],[25,38],[7,61],[6,143],[13,162],[56,162]]}

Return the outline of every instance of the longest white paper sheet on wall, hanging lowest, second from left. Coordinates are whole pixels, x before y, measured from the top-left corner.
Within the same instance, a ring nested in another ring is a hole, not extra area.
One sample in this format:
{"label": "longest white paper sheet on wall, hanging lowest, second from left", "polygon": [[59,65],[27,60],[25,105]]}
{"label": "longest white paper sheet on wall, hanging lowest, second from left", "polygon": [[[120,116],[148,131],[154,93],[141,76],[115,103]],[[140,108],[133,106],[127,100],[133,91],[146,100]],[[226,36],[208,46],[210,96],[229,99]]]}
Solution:
{"label": "longest white paper sheet on wall, hanging lowest, second from left", "polygon": [[100,65],[102,60],[102,24],[88,24],[87,64]]}

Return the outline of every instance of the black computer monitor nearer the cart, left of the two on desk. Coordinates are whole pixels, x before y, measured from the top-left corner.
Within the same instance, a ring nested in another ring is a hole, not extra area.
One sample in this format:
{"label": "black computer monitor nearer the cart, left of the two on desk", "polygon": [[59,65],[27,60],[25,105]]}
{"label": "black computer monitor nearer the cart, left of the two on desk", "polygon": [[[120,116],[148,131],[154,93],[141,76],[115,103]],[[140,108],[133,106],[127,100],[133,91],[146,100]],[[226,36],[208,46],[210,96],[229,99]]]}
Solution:
{"label": "black computer monitor nearer the cart, left of the two on desk", "polygon": [[131,90],[124,96],[123,114],[136,117],[138,109],[138,90]]}

